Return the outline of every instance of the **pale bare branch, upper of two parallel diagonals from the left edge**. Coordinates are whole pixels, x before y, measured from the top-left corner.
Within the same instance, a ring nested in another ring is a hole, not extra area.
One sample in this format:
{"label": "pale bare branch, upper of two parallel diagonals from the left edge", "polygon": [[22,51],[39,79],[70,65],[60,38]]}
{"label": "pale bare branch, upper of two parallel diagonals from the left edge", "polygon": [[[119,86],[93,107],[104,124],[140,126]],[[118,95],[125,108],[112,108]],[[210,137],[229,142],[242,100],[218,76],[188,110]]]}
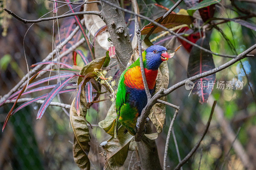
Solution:
{"label": "pale bare branch, upper of two parallel diagonals from the left edge", "polygon": [[[68,43],[68,41],[70,41],[72,39],[72,37],[76,34],[76,32],[79,30],[79,27],[76,26],[76,28],[72,31],[72,33],[70,33],[70,35],[61,42],[62,46],[59,44],[56,49],[54,49],[50,54],[48,54],[44,60],[44,61],[48,61],[52,58],[52,54],[56,53],[56,50],[60,50],[63,48],[64,45],[66,45]],[[35,74],[39,69],[41,69],[43,67],[42,64],[37,65],[35,68],[33,68],[32,70],[29,71],[29,75],[33,75]],[[1,99],[0,99],[0,103],[4,102],[4,100],[6,100],[13,92],[16,92],[19,87],[27,80],[28,78],[28,73],[19,81],[19,83],[17,83],[7,94],[5,94]]]}

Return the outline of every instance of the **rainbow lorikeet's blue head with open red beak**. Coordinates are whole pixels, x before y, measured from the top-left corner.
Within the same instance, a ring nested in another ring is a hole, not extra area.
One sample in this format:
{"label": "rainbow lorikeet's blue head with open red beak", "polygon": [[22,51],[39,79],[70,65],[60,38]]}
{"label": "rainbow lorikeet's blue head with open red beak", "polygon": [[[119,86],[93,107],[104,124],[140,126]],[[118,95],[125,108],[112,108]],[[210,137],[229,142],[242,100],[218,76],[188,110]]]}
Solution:
{"label": "rainbow lorikeet's blue head with open red beak", "polygon": [[144,68],[148,70],[158,70],[160,64],[168,60],[167,49],[160,45],[148,47],[142,54]]}

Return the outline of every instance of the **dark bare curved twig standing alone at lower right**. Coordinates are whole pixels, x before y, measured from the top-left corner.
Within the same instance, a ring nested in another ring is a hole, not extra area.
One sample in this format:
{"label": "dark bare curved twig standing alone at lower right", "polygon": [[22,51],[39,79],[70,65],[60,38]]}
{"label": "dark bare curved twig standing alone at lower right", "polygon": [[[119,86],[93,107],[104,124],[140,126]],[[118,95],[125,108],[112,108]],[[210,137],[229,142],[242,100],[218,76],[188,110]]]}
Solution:
{"label": "dark bare curved twig standing alone at lower right", "polygon": [[215,101],[213,102],[211,114],[210,114],[210,116],[209,116],[209,119],[208,119],[208,122],[207,122],[207,124],[206,124],[206,127],[205,127],[205,129],[204,129],[203,134],[202,134],[201,137],[198,139],[198,141],[196,142],[195,146],[191,149],[191,151],[188,153],[188,155],[187,155],[184,159],[182,159],[182,160],[180,161],[180,163],[174,168],[174,170],[180,169],[180,167],[181,167],[183,164],[185,164],[185,163],[188,161],[188,159],[196,152],[197,148],[199,147],[201,141],[203,140],[204,136],[206,135],[206,133],[207,133],[207,131],[208,131],[208,128],[209,128],[210,123],[211,123],[211,120],[212,120],[212,114],[213,114],[214,108],[215,108],[215,106],[216,106],[216,103],[217,103],[217,100],[215,100]]}

